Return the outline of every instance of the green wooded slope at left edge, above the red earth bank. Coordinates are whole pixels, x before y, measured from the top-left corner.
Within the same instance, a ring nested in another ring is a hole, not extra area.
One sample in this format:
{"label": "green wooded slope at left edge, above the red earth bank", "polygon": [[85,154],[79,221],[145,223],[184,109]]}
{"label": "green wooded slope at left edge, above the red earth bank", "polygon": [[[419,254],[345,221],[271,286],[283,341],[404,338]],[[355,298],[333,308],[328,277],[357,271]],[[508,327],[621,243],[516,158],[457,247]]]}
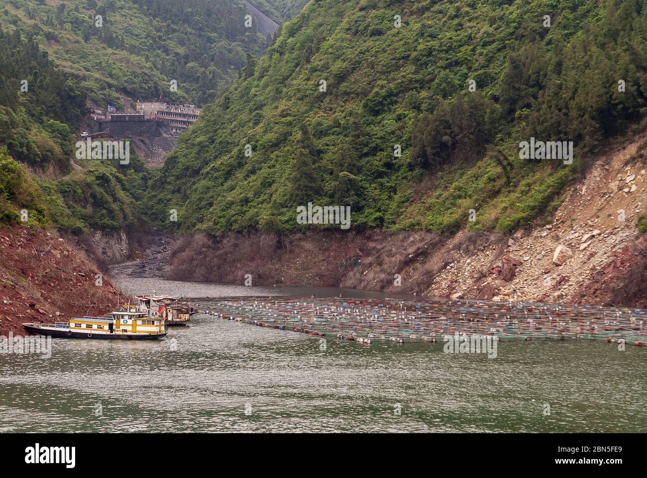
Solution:
{"label": "green wooded slope at left edge, above the red earth bank", "polygon": [[0,28],[0,222],[20,220],[23,210],[29,223],[67,231],[120,229],[144,218],[150,172],[134,151],[129,165],[76,159],[82,169],[72,171],[72,131],[86,95],[32,34]]}

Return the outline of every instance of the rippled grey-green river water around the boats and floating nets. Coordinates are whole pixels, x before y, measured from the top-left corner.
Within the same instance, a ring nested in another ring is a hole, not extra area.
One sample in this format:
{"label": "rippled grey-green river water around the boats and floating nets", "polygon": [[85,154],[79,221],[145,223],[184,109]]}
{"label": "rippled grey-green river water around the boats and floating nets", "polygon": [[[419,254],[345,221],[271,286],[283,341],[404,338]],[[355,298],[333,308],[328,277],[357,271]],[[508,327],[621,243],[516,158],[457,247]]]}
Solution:
{"label": "rippled grey-green river water around the boats and floating nets", "polygon": [[[184,297],[382,297],[118,279]],[[201,304],[207,304],[203,299]],[[437,343],[364,346],[209,315],[160,341],[53,339],[0,354],[3,431],[644,431],[644,348],[505,341],[498,357]],[[549,412],[549,414],[548,414]]]}

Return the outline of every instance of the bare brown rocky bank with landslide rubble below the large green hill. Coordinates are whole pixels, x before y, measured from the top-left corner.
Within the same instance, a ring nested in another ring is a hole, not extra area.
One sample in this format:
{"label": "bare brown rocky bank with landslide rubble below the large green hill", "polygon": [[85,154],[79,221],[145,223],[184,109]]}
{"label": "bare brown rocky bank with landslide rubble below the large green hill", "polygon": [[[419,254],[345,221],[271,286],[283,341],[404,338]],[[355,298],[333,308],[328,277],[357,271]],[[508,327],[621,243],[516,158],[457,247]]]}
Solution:
{"label": "bare brown rocky bank with landslide rubble below the large green hill", "polygon": [[646,152],[642,133],[600,154],[567,188],[549,223],[512,237],[465,230],[197,233],[171,249],[167,277],[243,284],[251,274],[254,285],[644,308]]}

